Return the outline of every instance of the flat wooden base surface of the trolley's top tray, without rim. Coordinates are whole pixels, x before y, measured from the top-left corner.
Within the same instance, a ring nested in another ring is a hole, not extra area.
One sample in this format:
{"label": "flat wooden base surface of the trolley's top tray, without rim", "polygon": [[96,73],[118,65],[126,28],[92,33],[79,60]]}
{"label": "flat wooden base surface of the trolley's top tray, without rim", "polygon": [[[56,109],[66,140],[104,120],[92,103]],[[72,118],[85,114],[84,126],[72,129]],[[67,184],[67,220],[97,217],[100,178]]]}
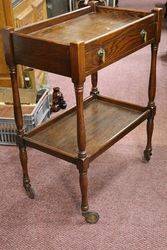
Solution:
{"label": "flat wooden base surface of the trolley's top tray, without rim", "polygon": [[115,12],[89,13],[30,33],[30,35],[59,44],[69,45],[70,42],[89,41],[137,19],[139,17],[123,14],[117,15]]}

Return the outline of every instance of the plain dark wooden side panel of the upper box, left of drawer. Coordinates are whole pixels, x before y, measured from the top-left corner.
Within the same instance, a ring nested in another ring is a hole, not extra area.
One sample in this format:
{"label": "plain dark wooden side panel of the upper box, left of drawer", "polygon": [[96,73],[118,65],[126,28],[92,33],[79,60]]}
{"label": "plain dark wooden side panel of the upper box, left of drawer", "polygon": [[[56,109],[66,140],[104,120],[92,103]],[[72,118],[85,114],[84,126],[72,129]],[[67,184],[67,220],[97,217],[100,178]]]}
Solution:
{"label": "plain dark wooden side panel of the upper box, left of drawer", "polygon": [[[69,48],[62,44],[13,34],[15,62],[44,71],[70,76]],[[49,57],[46,57],[47,55]],[[22,56],[24,55],[24,57]]]}

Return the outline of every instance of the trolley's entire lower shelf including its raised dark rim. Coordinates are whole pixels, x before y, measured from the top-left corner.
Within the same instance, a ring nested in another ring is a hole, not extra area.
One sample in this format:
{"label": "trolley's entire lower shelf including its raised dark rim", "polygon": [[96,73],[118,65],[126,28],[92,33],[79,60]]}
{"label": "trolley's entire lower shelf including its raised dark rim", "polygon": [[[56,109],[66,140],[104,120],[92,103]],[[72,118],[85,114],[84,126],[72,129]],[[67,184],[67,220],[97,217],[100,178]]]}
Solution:
{"label": "trolley's entire lower shelf including its raised dark rim", "polygon": [[[137,127],[149,110],[107,97],[84,101],[86,152],[90,160]],[[75,162],[78,157],[76,107],[51,119],[24,137],[28,146]]]}

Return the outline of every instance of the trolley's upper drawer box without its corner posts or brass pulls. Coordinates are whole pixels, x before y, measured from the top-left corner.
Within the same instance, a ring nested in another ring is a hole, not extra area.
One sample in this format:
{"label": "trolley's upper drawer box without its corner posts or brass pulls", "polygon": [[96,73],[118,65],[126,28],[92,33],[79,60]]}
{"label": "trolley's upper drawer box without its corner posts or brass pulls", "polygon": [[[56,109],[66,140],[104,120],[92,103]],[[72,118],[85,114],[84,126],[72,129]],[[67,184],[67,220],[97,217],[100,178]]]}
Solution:
{"label": "trolley's upper drawer box without its corner posts or brass pulls", "polygon": [[[14,33],[16,63],[71,77],[70,43],[71,41],[75,41],[75,43],[84,41],[85,74],[89,75],[153,41],[154,14],[149,13],[141,17],[139,12],[130,11],[127,14],[122,10],[115,13],[113,8],[104,7],[98,7],[96,13],[89,12],[88,7],[84,12],[79,10],[73,14],[63,15],[60,19],[55,18],[52,20],[53,23],[50,21],[52,26],[48,28],[48,24],[44,22],[32,25],[26,28],[26,35],[24,34],[25,28]],[[61,20],[67,21],[62,24]],[[96,29],[94,29],[95,26]],[[37,28],[39,31],[32,32],[32,29]],[[82,29],[84,32],[80,32]],[[146,42],[143,42],[140,34],[143,29],[148,32]],[[106,51],[105,62],[101,62],[97,55],[102,44]],[[50,60],[47,60],[44,55],[46,50]],[[26,54],[26,62],[25,57],[22,57],[23,54]]]}

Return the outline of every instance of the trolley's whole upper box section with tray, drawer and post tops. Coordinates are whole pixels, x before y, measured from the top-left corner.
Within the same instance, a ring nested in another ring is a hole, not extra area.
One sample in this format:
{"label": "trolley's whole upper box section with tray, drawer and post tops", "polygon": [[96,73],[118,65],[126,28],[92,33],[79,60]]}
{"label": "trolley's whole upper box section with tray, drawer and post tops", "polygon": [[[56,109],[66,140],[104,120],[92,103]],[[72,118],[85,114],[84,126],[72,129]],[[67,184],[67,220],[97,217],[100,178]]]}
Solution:
{"label": "trolley's whole upper box section with tray, drawer and post tops", "polygon": [[88,6],[14,31],[6,30],[6,58],[11,54],[7,46],[10,34],[14,64],[68,76],[76,82],[81,72],[84,79],[154,41],[159,42],[160,12]]}

